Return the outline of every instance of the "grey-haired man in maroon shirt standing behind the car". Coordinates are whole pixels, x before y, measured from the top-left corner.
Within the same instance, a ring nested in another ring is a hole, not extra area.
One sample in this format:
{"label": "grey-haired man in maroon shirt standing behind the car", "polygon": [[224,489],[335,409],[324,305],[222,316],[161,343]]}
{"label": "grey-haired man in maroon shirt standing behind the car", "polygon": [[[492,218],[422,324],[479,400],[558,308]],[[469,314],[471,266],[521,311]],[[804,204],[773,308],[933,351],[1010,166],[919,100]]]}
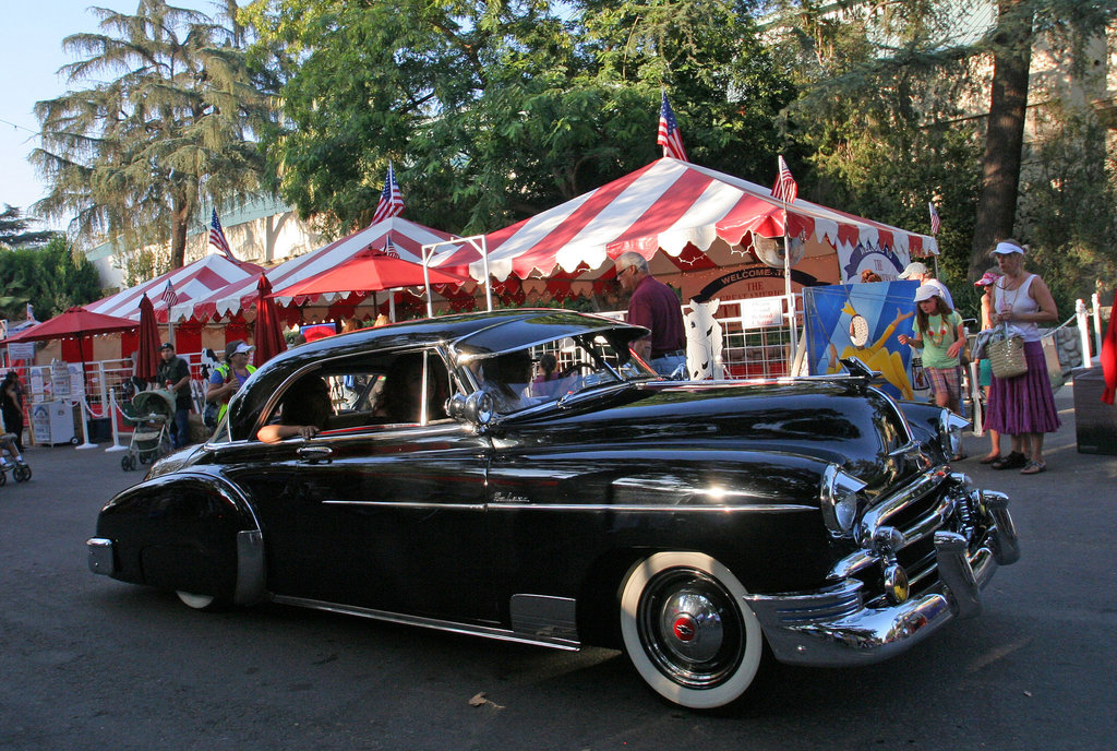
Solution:
{"label": "grey-haired man in maroon shirt standing behind the car", "polygon": [[649,336],[632,342],[632,351],[660,376],[671,376],[679,365],[686,372],[687,335],[675,291],[648,273],[648,262],[639,253],[622,253],[613,265],[621,288],[632,294],[628,322],[651,330]]}

